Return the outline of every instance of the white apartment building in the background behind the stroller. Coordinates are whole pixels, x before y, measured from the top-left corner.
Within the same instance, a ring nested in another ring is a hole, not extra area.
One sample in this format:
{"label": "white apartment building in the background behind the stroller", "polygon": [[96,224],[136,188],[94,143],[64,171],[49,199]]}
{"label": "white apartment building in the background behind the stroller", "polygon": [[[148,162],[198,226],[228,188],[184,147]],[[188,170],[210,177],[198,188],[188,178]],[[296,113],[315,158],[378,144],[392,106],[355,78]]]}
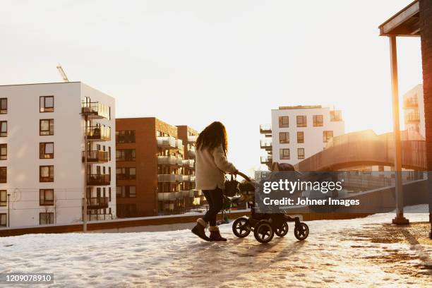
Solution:
{"label": "white apartment building in the background behind the stroller", "polygon": [[272,124],[260,126],[265,135],[260,147],[268,152],[261,163],[297,164],[323,150],[328,141],[344,133],[340,110],[328,107],[288,106],[272,109]]}

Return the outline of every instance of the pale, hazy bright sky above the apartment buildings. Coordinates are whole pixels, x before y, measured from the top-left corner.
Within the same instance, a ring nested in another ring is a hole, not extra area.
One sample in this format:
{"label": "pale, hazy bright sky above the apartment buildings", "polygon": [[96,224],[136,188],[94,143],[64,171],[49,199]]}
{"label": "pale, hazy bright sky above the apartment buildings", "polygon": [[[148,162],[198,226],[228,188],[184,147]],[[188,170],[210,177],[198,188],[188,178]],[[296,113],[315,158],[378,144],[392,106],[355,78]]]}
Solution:
{"label": "pale, hazy bright sky above the apartment buildings", "polygon": [[[59,82],[60,63],[115,97],[116,117],[198,131],[222,121],[229,160],[250,174],[265,155],[259,125],[279,106],[334,106],[347,132],[392,131],[378,25],[410,2],[2,1],[0,85]],[[402,99],[422,82],[419,38],[398,38],[398,56]]]}

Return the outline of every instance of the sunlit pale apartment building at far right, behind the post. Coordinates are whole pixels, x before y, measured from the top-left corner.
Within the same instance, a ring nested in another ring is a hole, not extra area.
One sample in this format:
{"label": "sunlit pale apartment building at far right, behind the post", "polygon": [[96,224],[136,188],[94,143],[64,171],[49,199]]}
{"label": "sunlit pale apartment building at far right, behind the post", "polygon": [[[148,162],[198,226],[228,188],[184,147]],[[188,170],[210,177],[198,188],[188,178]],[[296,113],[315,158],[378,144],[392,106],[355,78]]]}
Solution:
{"label": "sunlit pale apartment building at far right, behind the post", "polygon": [[416,85],[404,94],[404,124],[408,131],[416,131],[426,137],[424,121],[423,84]]}

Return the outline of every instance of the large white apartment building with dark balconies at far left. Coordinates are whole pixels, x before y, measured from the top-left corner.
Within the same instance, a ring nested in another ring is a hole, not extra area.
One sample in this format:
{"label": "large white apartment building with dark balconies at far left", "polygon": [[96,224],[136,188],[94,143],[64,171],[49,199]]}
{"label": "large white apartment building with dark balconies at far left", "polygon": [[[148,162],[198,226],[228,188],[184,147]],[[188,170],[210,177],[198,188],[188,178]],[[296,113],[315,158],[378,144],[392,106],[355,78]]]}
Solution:
{"label": "large white apartment building with dark balconies at far left", "polygon": [[80,82],[0,86],[0,229],[83,220],[85,134],[87,218],[115,217],[114,109]]}

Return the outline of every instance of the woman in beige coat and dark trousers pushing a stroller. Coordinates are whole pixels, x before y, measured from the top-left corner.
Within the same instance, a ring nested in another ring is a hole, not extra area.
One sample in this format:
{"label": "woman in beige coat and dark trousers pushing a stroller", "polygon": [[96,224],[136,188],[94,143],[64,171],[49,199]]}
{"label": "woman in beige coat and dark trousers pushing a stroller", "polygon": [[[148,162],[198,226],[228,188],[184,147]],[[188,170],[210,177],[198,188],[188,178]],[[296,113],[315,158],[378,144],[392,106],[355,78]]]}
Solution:
{"label": "woman in beige coat and dark trousers pushing a stroller", "polygon": [[[216,226],[216,216],[222,210],[224,199],[224,173],[237,173],[236,167],[227,160],[227,146],[227,131],[220,122],[205,127],[196,140],[196,189],[203,191],[209,209],[196,221],[192,232],[205,241],[227,241]],[[205,235],[209,223],[210,237]]]}

